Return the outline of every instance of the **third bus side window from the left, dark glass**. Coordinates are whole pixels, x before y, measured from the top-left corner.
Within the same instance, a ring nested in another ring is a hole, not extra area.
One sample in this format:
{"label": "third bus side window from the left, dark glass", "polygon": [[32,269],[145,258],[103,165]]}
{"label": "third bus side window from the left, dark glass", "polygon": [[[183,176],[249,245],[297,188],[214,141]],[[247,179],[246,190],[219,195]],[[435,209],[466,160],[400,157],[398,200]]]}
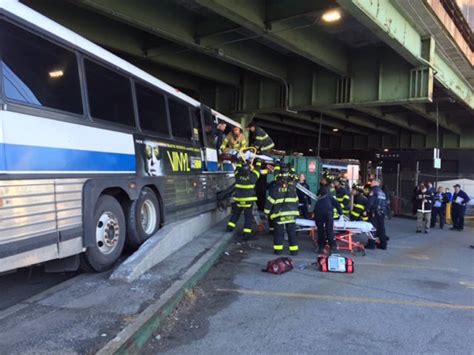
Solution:
{"label": "third bus side window from the left, dark glass", "polygon": [[169,136],[166,101],[163,94],[135,83],[140,127],[153,133]]}

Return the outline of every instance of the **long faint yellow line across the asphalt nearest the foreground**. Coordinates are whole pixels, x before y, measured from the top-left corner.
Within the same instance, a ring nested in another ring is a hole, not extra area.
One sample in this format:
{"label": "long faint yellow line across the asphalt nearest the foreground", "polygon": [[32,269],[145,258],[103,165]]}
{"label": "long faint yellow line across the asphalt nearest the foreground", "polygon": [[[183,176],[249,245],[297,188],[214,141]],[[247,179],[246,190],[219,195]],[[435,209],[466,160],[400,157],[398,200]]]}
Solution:
{"label": "long faint yellow line across the asphalt nearest the foreground", "polygon": [[313,299],[313,300],[333,301],[333,302],[335,301],[335,302],[350,302],[350,303],[392,304],[392,305],[400,305],[400,306],[474,311],[474,306],[463,305],[463,304],[420,302],[420,301],[408,301],[408,300],[391,300],[391,299],[373,298],[373,297],[348,297],[348,296],[335,296],[335,295],[321,295],[317,293],[270,292],[270,291],[230,289],[230,288],[218,288],[216,291],[227,292],[227,293],[229,292],[239,293],[241,295],[259,296],[259,297],[286,297],[286,298]]}

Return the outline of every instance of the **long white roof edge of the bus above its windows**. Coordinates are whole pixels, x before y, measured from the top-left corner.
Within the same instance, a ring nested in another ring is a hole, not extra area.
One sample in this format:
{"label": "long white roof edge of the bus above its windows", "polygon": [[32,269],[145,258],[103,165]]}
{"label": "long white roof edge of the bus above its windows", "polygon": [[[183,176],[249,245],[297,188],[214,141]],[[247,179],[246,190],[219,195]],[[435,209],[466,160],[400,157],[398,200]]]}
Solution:
{"label": "long white roof edge of the bus above its windows", "polygon": [[[0,0],[0,9],[3,9],[4,11],[12,14],[13,16],[21,18],[32,25],[41,27],[42,30],[63,39],[71,46],[77,47],[85,53],[89,53],[98,58],[101,58],[101,60],[115,67],[118,67],[123,71],[134,75],[175,97],[180,98],[183,101],[186,101],[194,107],[199,107],[201,105],[199,101],[193,99],[192,97],[186,95],[185,93],[179,91],[171,85],[166,84],[160,79],[155,78],[144,70],[123,60],[115,54],[105,50],[104,48],[94,44],[88,39],[49,19],[48,17],[40,14],[39,12],[36,12],[28,6],[21,4],[18,0]],[[238,122],[228,118],[227,116],[214,110],[212,110],[212,112],[216,115],[217,118],[224,120],[234,126],[240,127],[240,124]]]}

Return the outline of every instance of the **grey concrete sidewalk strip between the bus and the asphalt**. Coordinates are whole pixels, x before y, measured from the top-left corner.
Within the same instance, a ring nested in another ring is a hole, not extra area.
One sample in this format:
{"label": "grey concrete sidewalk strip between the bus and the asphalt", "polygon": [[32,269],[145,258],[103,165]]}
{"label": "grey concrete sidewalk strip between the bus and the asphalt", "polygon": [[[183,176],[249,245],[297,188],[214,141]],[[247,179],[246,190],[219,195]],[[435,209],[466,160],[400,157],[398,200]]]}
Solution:
{"label": "grey concrete sidewalk strip between the bus and the asphalt", "polygon": [[[111,272],[81,274],[3,310],[0,354],[95,353],[111,341],[110,351],[133,349],[137,339],[144,341],[142,327],[153,331],[159,324],[150,310],[162,312],[163,307],[157,308],[161,305],[171,312],[222,255],[233,235],[224,230],[225,221],[132,283],[111,281]],[[116,341],[124,329],[128,333]]]}

